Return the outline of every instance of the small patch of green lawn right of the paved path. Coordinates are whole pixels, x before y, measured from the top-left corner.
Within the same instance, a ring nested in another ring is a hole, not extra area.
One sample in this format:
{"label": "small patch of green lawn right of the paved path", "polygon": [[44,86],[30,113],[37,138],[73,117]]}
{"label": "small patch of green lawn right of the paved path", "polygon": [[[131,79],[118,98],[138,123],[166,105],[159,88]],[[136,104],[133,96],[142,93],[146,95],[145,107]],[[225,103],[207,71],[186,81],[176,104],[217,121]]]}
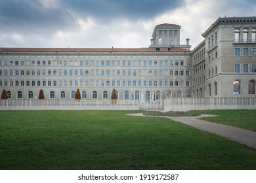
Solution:
{"label": "small patch of green lawn right of the paved path", "polygon": [[199,112],[218,115],[202,118],[203,120],[256,131],[256,110],[200,110]]}

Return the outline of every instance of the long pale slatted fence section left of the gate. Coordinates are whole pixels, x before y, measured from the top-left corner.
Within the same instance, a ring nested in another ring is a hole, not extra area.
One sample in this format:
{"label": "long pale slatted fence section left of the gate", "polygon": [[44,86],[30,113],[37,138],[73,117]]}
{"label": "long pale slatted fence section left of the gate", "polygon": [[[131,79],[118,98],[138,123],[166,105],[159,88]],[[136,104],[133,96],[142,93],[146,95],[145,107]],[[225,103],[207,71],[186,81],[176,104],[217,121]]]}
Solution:
{"label": "long pale slatted fence section left of the gate", "polygon": [[2,99],[1,110],[139,110],[139,101],[128,100],[51,100]]}

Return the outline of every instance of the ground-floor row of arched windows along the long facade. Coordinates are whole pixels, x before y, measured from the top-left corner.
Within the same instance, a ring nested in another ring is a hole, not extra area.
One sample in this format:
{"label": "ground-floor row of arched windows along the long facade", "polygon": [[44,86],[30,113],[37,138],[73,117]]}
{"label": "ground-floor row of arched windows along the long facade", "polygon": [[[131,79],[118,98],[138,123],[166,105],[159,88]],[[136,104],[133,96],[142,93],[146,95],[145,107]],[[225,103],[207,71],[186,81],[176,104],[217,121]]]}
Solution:
{"label": "ground-floor row of arched windows along the long facade", "polygon": [[[144,95],[144,99],[146,99],[146,101],[149,101],[150,99],[153,100],[160,100],[161,99],[161,92],[157,91],[157,92],[150,92],[150,91],[146,91],[145,93],[140,93],[139,91],[135,91],[135,92],[129,92],[129,91],[125,91],[123,92],[123,99],[125,100],[129,100],[129,99],[135,99],[135,100],[139,100],[140,99],[140,94]],[[7,97],[9,99],[12,98],[12,93],[10,91],[7,91]],[[21,91],[18,91],[16,93],[16,98],[17,99],[23,99],[23,93]],[[60,99],[66,99],[66,92],[63,90],[60,92]],[[116,97],[117,99],[119,99],[119,92],[116,91]],[[167,91],[166,93],[166,98],[170,98],[172,97],[172,93],[171,91]],[[177,97],[182,97],[182,92],[178,91],[177,92]],[[52,90],[49,93],[49,98],[50,99],[55,99],[56,98],[56,93]],[[81,92],[81,99],[87,99],[88,95],[86,91],[82,91]],[[91,98],[92,99],[98,99],[98,92],[93,91],[91,93]],[[28,99],[37,99],[37,96],[32,92],[29,91],[28,92]],[[72,91],[70,93],[70,99],[75,99],[75,91]],[[102,92],[102,99],[110,99],[110,95],[107,91]]]}

